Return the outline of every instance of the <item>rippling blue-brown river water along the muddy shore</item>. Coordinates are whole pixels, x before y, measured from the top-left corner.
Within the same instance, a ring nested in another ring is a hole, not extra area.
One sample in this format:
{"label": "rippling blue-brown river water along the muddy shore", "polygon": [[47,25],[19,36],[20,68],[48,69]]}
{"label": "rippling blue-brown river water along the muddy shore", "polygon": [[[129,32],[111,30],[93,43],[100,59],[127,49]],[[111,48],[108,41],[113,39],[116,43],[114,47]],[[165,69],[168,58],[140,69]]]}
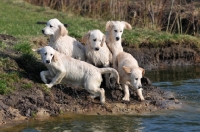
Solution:
{"label": "rippling blue-brown river water along the muddy shore", "polygon": [[[146,71],[152,85],[172,91],[181,109],[141,115],[88,116],[63,114],[48,120],[30,120],[3,132],[195,132],[200,131],[200,67],[173,67]],[[0,130],[1,131],[1,130]]]}

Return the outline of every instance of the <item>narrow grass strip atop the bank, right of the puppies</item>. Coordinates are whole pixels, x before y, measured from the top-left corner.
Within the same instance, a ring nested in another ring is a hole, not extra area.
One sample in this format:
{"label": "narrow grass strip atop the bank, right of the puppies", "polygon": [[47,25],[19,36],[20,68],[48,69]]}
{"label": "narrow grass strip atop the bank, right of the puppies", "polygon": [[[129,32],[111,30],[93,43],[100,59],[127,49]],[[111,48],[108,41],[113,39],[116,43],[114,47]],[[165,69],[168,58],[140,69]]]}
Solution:
{"label": "narrow grass strip atop the bank, right of the puppies", "polygon": [[161,47],[168,44],[195,44],[200,48],[200,39],[185,34],[170,34],[162,31],[133,28],[123,34],[127,46],[139,47],[140,44],[150,44],[151,47]]}

